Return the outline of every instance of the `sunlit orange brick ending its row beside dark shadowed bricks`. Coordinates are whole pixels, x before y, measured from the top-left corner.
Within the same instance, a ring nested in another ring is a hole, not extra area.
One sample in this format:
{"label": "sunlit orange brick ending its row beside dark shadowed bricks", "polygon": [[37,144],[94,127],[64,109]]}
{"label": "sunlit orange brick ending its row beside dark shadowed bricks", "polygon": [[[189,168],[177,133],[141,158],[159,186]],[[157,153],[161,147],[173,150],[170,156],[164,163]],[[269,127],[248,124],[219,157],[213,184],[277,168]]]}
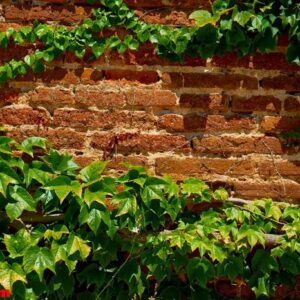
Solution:
{"label": "sunlit orange brick ending its row beside dark shadowed bricks", "polygon": [[174,106],[177,102],[176,94],[168,90],[131,89],[126,92],[128,105],[132,106]]}

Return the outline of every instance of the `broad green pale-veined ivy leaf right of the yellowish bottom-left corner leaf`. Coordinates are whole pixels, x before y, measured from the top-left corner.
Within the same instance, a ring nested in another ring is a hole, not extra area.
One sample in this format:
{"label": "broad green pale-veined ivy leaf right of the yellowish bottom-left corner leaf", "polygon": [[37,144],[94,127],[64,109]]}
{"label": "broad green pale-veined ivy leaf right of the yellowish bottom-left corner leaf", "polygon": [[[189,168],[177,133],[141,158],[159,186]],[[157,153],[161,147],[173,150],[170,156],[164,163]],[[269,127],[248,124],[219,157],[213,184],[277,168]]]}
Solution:
{"label": "broad green pale-veined ivy leaf right of the yellowish bottom-left corner leaf", "polygon": [[23,265],[27,273],[33,270],[36,271],[41,281],[46,269],[55,274],[54,256],[48,248],[40,248],[38,246],[28,248],[24,254]]}

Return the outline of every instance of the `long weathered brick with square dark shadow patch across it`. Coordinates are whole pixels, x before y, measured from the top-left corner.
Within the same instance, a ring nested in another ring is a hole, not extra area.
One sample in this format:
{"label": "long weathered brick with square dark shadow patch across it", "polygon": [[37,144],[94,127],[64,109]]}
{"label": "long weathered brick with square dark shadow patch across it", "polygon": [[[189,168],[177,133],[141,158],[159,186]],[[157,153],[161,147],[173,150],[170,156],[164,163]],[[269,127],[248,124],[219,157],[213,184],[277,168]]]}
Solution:
{"label": "long weathered brick with square dark shadow patch across it", "polygon": [[250,131],[256,128],[254,118],[242,118],[240,116],[225,117],[221,115],[209,115],[206,117],[188,114],[166,114],[159,117],[159,125],[169,131]]}

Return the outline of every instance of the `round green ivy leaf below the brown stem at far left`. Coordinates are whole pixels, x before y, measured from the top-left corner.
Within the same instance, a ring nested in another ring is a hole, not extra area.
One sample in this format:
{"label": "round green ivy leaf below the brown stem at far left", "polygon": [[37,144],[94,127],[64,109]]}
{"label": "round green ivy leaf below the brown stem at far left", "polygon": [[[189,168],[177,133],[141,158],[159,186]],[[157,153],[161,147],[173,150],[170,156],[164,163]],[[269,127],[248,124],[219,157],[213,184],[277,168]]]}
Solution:
{"label": "round green ivy leaf below the brown stem at far left", "polygon": [[11,258],[23,256],[26,249],[34,243],[30,233],[25,229],[14,235],[4,234],[4,244]]}

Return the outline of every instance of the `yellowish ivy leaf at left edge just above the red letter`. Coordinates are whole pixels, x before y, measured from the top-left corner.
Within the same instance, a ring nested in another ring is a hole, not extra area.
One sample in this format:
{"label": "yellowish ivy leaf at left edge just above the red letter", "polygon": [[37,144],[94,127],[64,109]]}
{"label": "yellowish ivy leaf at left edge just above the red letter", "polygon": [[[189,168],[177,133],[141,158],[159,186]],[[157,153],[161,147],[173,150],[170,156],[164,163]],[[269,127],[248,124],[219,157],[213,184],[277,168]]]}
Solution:
{"label": "yellowish ivy leaf at left edge just above the red letter", "polygon": [[13,284],[18,281],[27,283],[22,267],[17,263],[9,265],[7,262],[0,262],[0,285],[4,289],[12,291]]}

